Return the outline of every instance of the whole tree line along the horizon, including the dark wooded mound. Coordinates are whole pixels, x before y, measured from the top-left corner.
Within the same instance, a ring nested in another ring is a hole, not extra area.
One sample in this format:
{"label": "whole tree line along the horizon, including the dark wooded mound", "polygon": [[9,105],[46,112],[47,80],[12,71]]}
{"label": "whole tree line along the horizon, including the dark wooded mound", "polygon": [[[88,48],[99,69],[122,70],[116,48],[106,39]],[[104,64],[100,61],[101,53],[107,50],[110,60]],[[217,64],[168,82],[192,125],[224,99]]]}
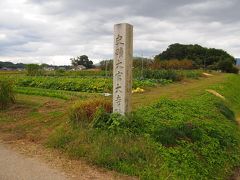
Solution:
{"label": "whole tree line along the horizon, including the dark wooded mound", "polygon": [[[112,59],[103,60],[99,65],[94,65],[87,55],[81,55],[71,58],[70,61],[72,66],[82,65],[86,69],[99,67],[102,70],[111,71],[113,68]],[[26,68],[27,65],[23,63],[0,62],[1,67],[17,69]],[[41,67],[57,69],[59,66],[43,64]],[[64,69],[71,68],[70,66],[61,67],[64,67]],[[206,48],[198,44],[184,45],[179,43],[171,44],[165,51],[156,55],[154,59],[134,57],[133,67],[135,69],[210,69],[228,73],[238,73],[239,71],[236,67],[236,59],[222,49]]]}

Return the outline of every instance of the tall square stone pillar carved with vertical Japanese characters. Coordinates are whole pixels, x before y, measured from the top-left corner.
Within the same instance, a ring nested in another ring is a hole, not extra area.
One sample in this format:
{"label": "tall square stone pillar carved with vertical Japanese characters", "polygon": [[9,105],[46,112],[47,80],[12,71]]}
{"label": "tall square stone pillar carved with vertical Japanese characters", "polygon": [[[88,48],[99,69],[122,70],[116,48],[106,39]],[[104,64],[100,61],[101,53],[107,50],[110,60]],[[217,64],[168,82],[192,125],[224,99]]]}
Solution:
{"label": "tall square stone pillar carved with vertical Japanese characters", "polygon": [[113,112],[131,111],[133,26],[114,25]]}

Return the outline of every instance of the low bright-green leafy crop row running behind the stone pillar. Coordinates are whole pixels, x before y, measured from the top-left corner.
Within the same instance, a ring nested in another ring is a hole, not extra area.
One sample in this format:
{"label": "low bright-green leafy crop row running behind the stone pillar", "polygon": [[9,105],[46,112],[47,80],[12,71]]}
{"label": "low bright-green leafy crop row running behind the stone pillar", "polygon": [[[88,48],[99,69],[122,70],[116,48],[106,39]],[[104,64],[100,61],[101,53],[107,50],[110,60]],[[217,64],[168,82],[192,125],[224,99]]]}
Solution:
{"label": "low bright-green leafy crop row running behind the stone pillar", "polygon": [[[78,92],[111,92],[111,78],[63,78],[63,77],[20,77],[15,80],[20,87],[36,87],[44,89],[78,91]],[[153,87],[157,83],[151,80],[135,80],[133,88]]]}

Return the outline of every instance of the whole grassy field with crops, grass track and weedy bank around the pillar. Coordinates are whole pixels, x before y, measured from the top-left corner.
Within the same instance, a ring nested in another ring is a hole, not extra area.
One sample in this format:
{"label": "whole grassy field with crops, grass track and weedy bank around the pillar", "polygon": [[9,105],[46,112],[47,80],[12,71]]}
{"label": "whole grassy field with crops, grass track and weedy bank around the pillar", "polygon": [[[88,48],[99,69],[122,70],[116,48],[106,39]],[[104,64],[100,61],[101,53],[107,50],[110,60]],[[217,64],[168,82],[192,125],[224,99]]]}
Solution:
{"label": "whole grassy field with crops, grass track and weedy bank around the pillar", "polygon": [[16,104],[0,111],[8,139],[141,179],[224,179],[240,166],[238,75],[134,80],[134,89],[145,91],[133,94],[133,114],[96,127],[76,125],[69,114],[76,102],[111,100],[103,96],[112,90],[109,78],[0,77],[16,83]]}

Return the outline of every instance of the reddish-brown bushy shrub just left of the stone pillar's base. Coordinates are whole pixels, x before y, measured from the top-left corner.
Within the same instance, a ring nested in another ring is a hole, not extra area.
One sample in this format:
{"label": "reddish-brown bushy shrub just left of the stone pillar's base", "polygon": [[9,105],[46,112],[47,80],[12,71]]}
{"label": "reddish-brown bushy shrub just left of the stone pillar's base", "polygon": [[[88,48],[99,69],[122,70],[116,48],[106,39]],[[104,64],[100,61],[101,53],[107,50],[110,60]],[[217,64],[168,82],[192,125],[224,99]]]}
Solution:
{"label": "reddish-brown bushy shrub just left of the stone pillar's base", "polygon": [[104,98],[79,101],[70,109],[70,119],[73,123],[89,124],[93,121],[99,108],[103,108],[106,112],[110,113],[112,111],[112,102]]}

